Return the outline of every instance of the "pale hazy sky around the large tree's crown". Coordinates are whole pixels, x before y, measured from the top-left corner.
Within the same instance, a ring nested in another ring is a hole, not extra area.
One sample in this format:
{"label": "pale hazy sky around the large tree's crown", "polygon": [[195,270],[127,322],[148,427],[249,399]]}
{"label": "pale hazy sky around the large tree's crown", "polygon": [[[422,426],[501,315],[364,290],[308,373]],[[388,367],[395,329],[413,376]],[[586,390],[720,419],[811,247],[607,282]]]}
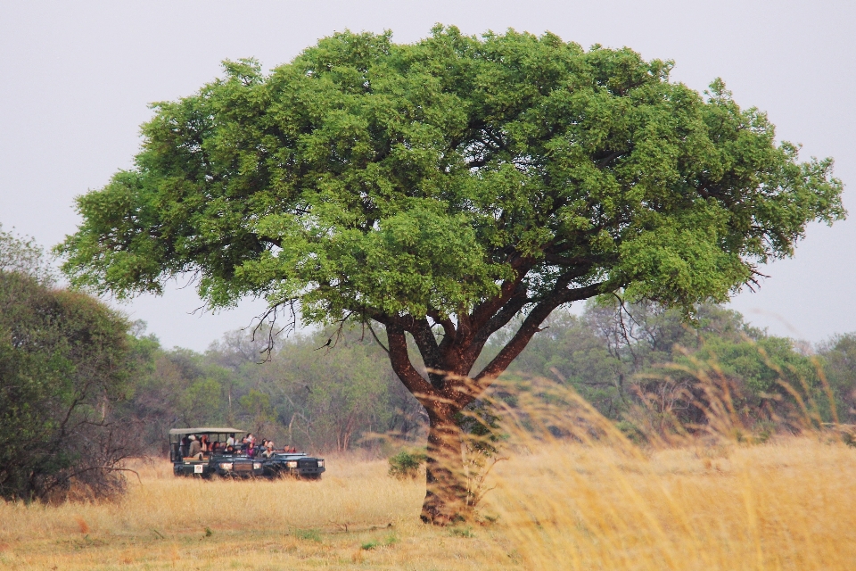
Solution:
{"label": "pale hazy sky around the large tree's crown", "polygon": [[[78,223],[74,196],[131,166],[146,104],[193,93],[223,59],[269,69],[337,30],[391,29],[412,42],[435,22],[630,46],[675,60],[673,79],[698,90],[721,77],[738,103],[769,112],[779,138],[802,143],[804,158],[833,156],[836,176],[856,182],[853,2],[0,0],[0,223],[60,242]],[[809,228],[794,259],[767,267],[761,290],[733,307],[771,333],[815,342],[856,330],[853,193],[844,195],[853,219]],[[164,345],[203,350],[264,306],[190,315],[200,304],[176,285],[122,307]]]}

